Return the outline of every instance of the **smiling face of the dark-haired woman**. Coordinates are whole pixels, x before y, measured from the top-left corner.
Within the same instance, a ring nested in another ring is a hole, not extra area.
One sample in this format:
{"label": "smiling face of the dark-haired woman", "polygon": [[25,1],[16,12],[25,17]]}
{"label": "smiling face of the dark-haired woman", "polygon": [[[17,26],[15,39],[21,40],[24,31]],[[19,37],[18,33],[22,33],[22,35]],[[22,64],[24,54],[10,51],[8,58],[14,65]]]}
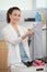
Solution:
{"label": "smiling face of the dark-haired woman", "polygon": [[17,23],[20,21],[21,11],[13,10],[13,12],[10,14],[10,22]]}

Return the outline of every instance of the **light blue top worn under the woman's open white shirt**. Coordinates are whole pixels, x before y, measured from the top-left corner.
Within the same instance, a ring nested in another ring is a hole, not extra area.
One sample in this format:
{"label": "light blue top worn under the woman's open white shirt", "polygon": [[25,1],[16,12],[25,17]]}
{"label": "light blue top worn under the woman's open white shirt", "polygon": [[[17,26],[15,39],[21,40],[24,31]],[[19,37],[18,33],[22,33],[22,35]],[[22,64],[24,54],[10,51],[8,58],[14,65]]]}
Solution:
{"label": "light blue top worn under the woman's open white shirt", "polygon": [[[21,37],[20,32],[17,32],[17,37]],[[25,53],[23,43],[20,42],[20,43],[19,43],[19,47],[20,47],[21,60],[22,60],[23,62],[27,62],[27,61],[28,61],[28,56],[27,56],[27,54]]]}

